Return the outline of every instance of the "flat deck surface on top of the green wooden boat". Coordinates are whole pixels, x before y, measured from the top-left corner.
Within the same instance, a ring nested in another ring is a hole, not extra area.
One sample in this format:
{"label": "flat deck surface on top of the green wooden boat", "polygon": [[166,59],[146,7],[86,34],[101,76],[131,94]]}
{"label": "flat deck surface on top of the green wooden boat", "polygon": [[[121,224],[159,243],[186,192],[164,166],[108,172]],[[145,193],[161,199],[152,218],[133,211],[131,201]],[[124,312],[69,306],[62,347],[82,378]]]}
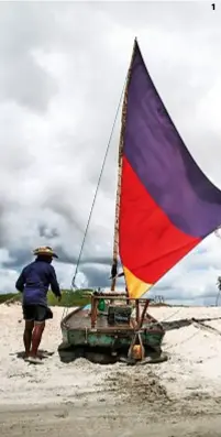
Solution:
{"label": "flat deck surface on top of the green wooden boat", "polygon": [[[146,315],[143,324],[143,328],[145,328],[150,323],[156,321],[155,319],[152,318],[152,316]],[[66,320],[65,320],[65,326],[67,329],[90,329],[91,328],[91,318],[90,318],[90,312],[86,309],[80,309],[77,312],[70,313]],[[97,329],[101,330],[134,330],[132,324],[115,324],[114,326],[111,326],[108,324],[108,318],[106,315],[99,315],[97,318],[97,324],[96,324]]]}

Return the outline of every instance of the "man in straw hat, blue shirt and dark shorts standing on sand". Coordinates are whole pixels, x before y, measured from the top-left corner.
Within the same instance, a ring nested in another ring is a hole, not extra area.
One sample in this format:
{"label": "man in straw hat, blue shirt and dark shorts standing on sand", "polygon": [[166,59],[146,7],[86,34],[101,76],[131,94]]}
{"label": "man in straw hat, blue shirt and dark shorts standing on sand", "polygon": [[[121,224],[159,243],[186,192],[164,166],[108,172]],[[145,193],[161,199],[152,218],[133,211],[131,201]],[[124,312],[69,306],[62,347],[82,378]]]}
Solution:
{"label": "man in straw hat, blue shirt and dark shorts standing on sand", "polygon": [[62,293],[52,265],[53,258],[58,258],[52,248],[44,247],[34,250],[36,259],[26,265],[19,276],[15,287],[23,294],[22,308],[25,328],[23,335],[25,360],[41,363],[37,350],[45,328],[45,320],[53,318],[53,313],[47,306],[47,291],[60,301]]}

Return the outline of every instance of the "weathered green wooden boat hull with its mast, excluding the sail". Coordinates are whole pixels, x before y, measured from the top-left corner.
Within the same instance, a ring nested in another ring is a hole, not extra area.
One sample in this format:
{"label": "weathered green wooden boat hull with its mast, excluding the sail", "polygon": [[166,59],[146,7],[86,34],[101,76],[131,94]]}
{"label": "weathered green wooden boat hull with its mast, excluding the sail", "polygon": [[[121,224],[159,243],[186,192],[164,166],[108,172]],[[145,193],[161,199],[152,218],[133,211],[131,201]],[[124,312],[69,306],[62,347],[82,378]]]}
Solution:
{"label": "weathered green wooden boat hull with its mast, excluding the sail", "polygon": [[[136,41],[131,59],[131,66],[136,50]],[[115,225],[114,225],[114,242],[113,242],[113,261],[111,269],[111,291],[109,293],[95,293],[91,296],[91,306],[77,308],[68,314],[62,320],[63,345],[59,348],[60,356],[65,357],[64,351],[69,346],[74,347],[76,357],[87,356],[99,357],[97,361],[102,362],[106,352],[117,361],[125,356],[133,356],[141,359],[142,353],[145,356],[145,348],[152,348],[157,354],[161,354],[161,343],[164,337],[164,329],[152,316],[146,315],[150,299],[130,297],[125,286],[124,293],[115,292],[118,277],[124,273],[118,274],[119,259],[119,217],[121,203],[121,181],[122,181],[122,156],[124,131],[126,122],[126,105],[128,105],[128,87],[131,76],[131,66],[128,72],[126,85],[124,90],[122,122],[119,145],[119,170],[118,170],[118,187],[115,200]],[[136,296],[135,296],[136,297]],[[103,310],[99,310],[100,303],[103,304]],[[132,309],[135,305],[135,318],[132,318]],[[136,332],[137,340],[136,340]],[[135,343],[139,343],[139,349]],[[134,348],[133,348],[134,346]],[[91,352],[92,351],[92,352]],[[63,352],[63,353],[62,353]],[[91,354],[90,354],[91,352]],[[130,353],[129,353],[130,352]],[[74,354],[75,356],[75,354]],[[74,357],[73,356],[73,357]]]}

